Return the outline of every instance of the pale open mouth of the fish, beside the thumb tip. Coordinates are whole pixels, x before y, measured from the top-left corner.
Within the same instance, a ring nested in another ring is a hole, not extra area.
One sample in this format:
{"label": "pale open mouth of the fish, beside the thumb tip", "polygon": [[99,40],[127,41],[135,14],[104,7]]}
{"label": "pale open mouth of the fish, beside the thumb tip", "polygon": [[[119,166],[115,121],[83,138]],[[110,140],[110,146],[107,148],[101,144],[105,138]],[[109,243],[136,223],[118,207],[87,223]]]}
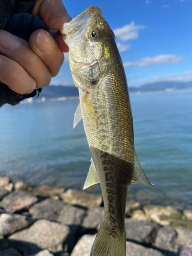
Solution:
{"label": "pale open mouth of the fish, beside the thumb tip", "polygon": [[[60,30],[61,34],[71,35],[78,29],[80,29],[83,25],[86,25],[89,20],[94,15],[100,15],[102,17],[102,12],[98,7],[90,6],[69,23],[64,23],[62,29]],[[67,40],[65,41],[67,43]]]}

